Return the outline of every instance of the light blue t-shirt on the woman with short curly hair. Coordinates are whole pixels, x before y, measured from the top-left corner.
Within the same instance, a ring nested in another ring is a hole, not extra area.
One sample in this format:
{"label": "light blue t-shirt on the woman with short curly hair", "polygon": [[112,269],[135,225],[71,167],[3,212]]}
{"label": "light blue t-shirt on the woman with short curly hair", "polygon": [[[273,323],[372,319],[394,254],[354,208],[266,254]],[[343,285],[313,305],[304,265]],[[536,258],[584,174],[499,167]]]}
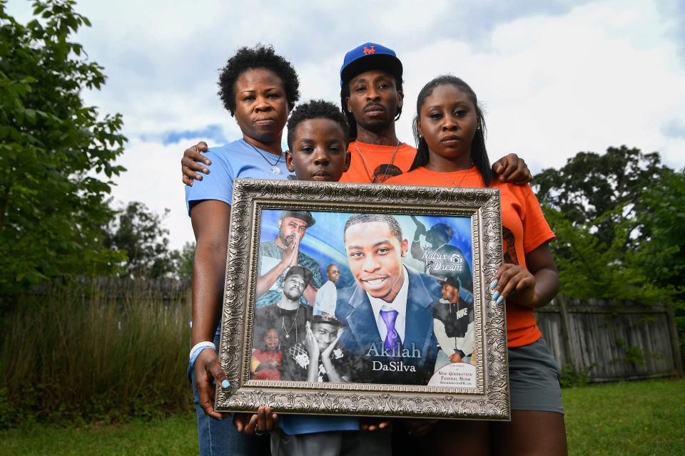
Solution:
{"label": "light blue t-shirt on the woman with short curly hair", "polygon": [[[261,156],[260,155],[263,155]],[[203,175],[202,180],[193,182],[193,187],[186,185],[186,209],[191,213],[193,204],[204,199],[215,199],[231,204],[233,199],[233,180],[247,179],[288,179],[292,173],[285,167],[285,157],[280,159],[275,155],[249,145],[245,140],[230,142],[221,147],[212,147],[205,152],[212,160],[208,166],[209,174]],[[268,162],[267,162],[268,160]],[[275,165],[271,165],[275,163]],[[278,167],[275,174],[271,167]],[[295,178],[292,175],[291,179]]]}

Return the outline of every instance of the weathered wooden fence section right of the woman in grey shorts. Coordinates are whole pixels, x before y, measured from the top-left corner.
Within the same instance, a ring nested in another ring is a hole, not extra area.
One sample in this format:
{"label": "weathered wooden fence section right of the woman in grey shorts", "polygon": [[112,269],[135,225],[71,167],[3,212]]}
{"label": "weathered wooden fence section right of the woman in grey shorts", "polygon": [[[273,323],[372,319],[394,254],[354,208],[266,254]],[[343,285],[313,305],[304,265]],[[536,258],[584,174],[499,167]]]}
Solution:
{"label": "weathered wooden fence section right of the woman in grey shorts", "polygon": [[537,319],[559,366],[587,371],[590,381],[683,373],[669,306],[610,305],[557,296],[537,310]]}

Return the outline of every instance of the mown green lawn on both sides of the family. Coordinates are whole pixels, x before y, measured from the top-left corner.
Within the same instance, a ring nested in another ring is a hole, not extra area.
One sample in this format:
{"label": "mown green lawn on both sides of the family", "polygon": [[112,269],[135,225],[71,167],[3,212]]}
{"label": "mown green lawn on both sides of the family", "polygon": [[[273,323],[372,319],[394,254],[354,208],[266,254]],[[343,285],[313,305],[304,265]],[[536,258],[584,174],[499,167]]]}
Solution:
{"label": "mown green lawn on both sides of the family", "polygon": [[[685,380],[563,390],[571,455],[684,455]],[[196,455],[195,414],[123,425],[0,431],[0,455]]]}

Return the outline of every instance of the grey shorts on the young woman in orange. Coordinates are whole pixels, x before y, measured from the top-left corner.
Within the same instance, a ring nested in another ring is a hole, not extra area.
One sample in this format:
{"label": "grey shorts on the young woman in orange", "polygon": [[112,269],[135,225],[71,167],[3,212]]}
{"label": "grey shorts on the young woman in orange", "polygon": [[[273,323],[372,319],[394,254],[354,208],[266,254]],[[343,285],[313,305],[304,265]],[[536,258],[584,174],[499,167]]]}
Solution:
{"label": "grey shorts on the young woman in orange", "polygon": [[564,414],[559,366],[543,338],[509,348],[509,397],[512,410]]}

